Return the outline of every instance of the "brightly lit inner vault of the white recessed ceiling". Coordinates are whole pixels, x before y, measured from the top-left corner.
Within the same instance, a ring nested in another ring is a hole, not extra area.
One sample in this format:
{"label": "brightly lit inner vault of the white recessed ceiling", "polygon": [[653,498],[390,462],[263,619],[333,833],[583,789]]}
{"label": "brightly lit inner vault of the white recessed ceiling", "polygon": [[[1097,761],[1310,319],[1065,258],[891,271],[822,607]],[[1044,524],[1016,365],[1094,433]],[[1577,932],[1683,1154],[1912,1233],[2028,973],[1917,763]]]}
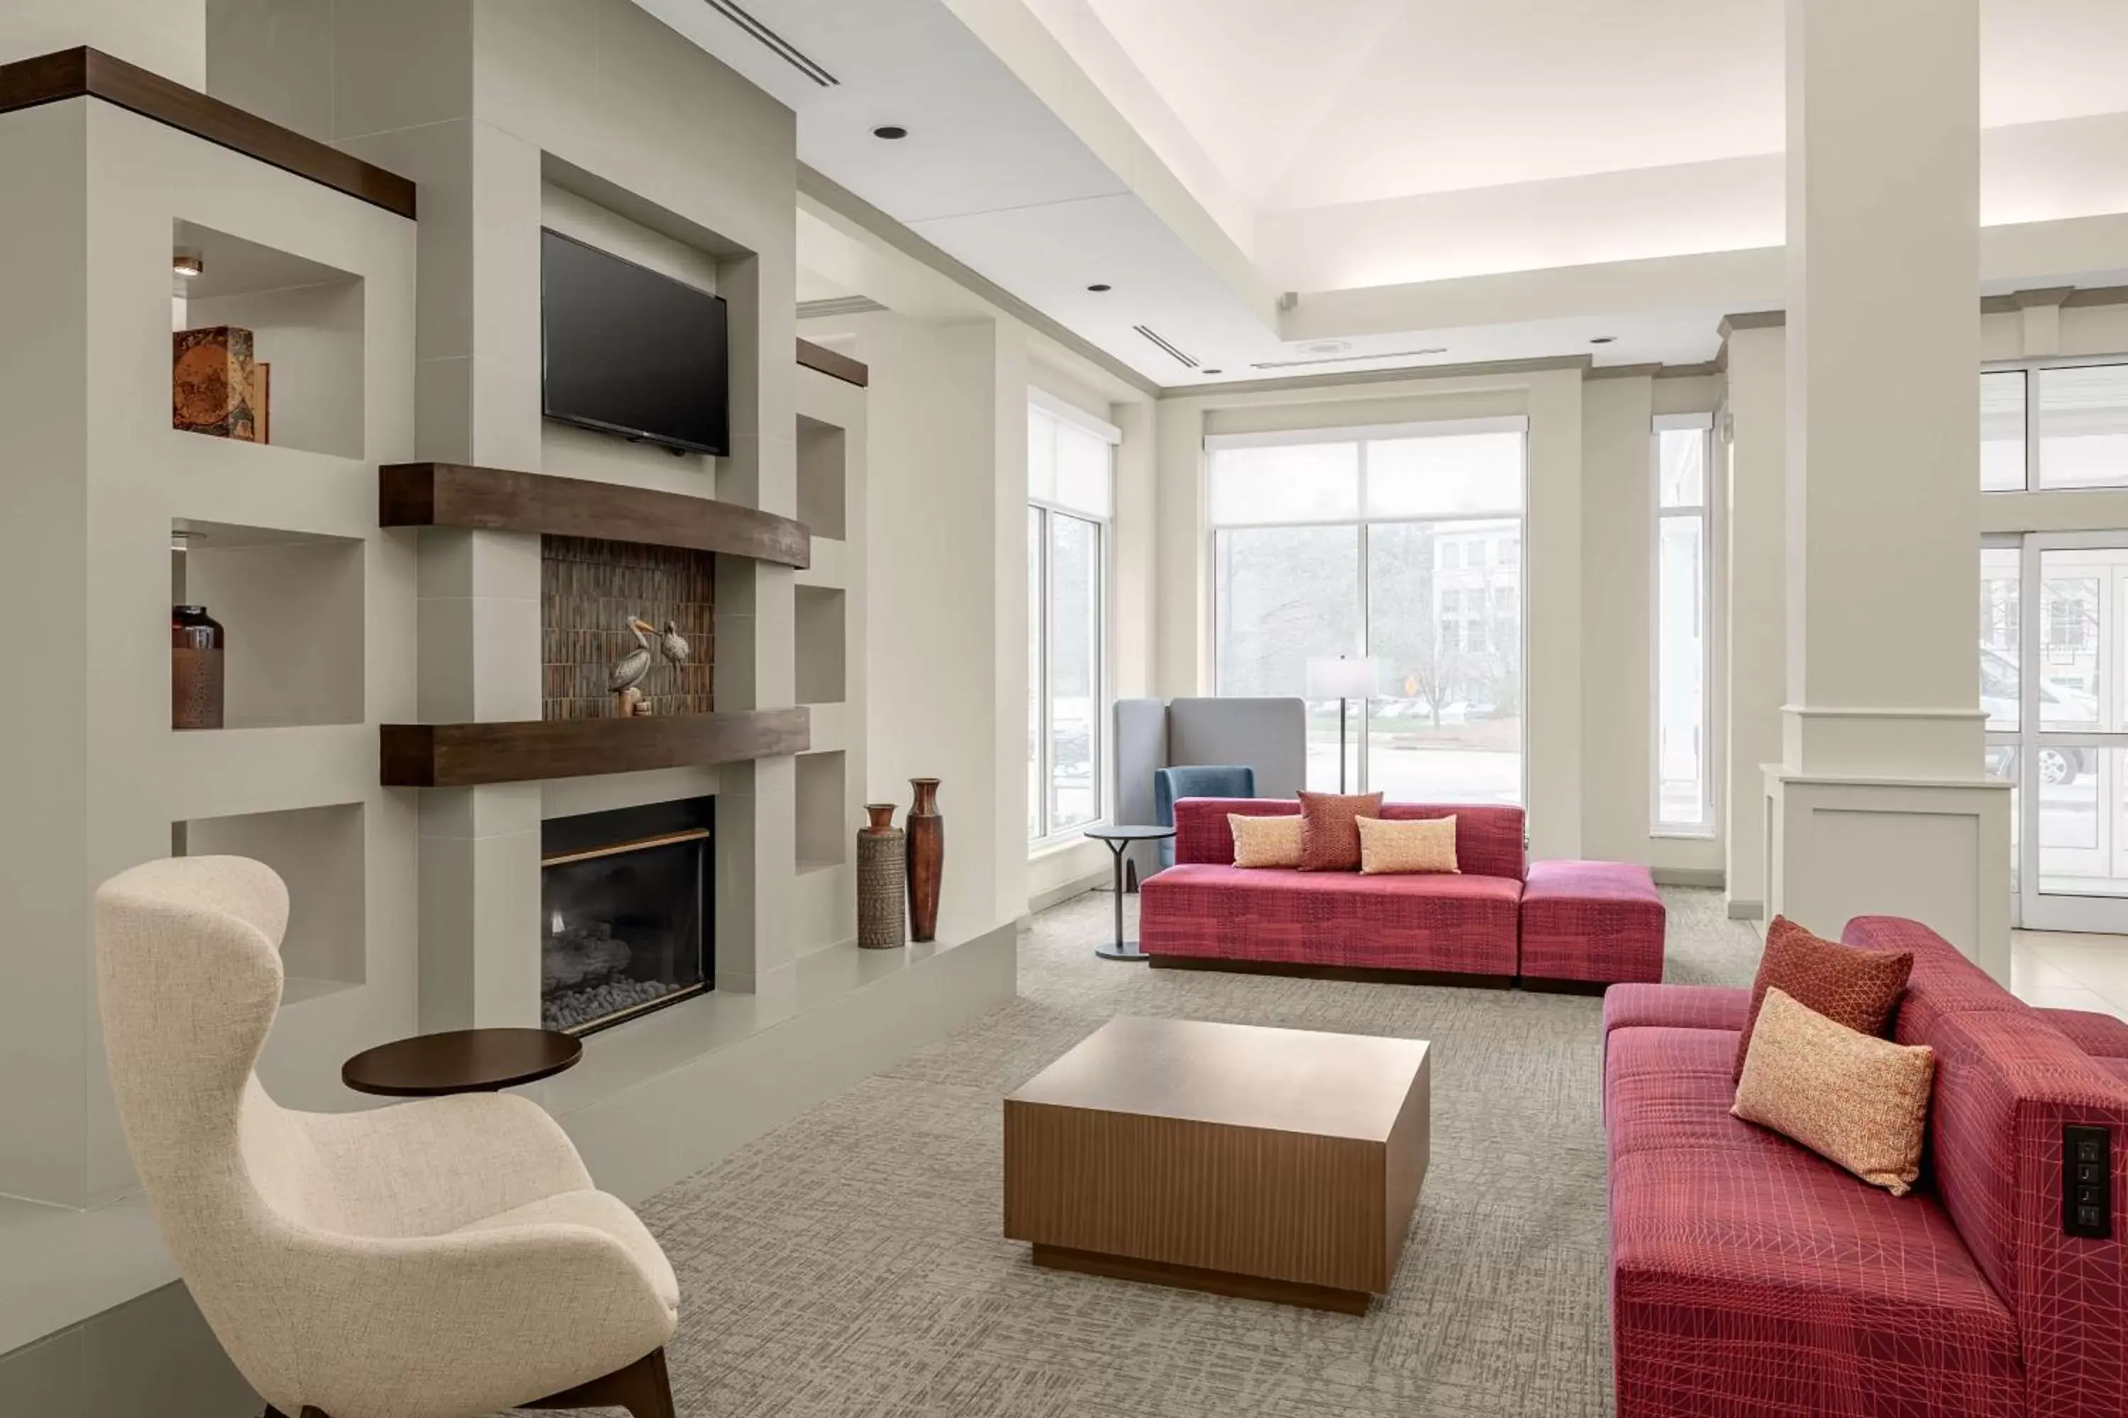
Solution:
{"label": "brightly lit inner vault of the white recessed ceiling", "polygon": [[[1783,145],[1781,0],[1030,4],[1090,9],[1262,210]],[[2128,108],[2122,0],[1988,0],[1983,15],[1985,125]]]}

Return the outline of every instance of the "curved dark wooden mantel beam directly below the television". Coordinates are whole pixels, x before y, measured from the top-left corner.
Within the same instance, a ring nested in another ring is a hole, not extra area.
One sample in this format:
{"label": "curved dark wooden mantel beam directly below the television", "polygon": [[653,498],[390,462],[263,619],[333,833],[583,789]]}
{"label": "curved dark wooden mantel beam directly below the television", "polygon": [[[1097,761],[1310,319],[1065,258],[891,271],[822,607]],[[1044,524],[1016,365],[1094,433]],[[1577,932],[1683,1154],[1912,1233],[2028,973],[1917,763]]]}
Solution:
{"label": "curved dark wooden mantel beam directly below the television", "polygon": [[596,536],[800,570],[813,563],[813,534],[789,517],[715,497],[466,463],[385,463],[377,470],[377,523]]}

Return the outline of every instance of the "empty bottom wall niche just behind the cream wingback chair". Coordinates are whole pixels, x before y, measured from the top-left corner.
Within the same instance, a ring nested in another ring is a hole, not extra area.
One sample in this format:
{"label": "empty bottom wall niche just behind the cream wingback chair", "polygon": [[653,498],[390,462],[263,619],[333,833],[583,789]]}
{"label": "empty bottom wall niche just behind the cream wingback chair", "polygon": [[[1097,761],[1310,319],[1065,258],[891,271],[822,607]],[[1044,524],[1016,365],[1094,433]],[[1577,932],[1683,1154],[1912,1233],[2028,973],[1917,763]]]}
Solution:
{"label": "empty bottom wall niche just behind the cream wingback chair", "polygon": [[281,969],[289,997],[362,984],[362,804],[198,816],[170,825],[174,857],[251,857],[287,882]]}

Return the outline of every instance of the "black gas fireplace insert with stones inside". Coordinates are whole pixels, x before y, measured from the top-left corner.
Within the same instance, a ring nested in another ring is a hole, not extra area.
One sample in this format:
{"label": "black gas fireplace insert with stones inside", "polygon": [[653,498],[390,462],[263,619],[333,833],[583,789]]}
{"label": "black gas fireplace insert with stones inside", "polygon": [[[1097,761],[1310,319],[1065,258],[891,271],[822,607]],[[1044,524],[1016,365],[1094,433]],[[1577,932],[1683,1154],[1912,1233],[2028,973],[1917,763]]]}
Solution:
{"label": "black gas fireplace insert with stones inside", "polygon": [[715,984],[715,799],[547,818],[541,1025],[592,1033]]}

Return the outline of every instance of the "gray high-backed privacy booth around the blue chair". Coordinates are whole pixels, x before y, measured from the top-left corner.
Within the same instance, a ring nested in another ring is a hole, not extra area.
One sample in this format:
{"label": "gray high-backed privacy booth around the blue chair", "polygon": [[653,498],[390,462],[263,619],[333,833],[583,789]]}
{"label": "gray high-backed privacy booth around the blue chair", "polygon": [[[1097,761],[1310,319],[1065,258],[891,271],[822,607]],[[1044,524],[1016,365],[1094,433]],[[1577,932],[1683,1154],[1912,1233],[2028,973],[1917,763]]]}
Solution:
{"label": "gray high-backed privacy booth around the blue chair", "polygon": [[[1307,787],[1307,704],[1302,699],[1117,699],[1115,821],[1153,823],[1153,770],[1190,763],[1245,763],[1258,797],[1292,797]],[[1160,870],[1145,842],[1130,848],[1138,876]]]}

